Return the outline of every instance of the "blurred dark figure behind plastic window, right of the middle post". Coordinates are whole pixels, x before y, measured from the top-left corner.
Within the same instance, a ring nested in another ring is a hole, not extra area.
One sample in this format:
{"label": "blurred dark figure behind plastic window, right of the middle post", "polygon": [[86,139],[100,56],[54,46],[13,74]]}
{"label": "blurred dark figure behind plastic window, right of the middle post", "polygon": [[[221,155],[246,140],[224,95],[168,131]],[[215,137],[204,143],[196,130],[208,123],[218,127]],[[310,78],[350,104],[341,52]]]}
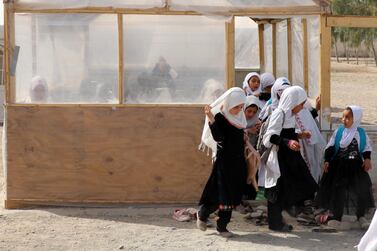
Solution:
{"label": "blurred dark figure behind plastic window, right of the middle post", "polygon": [[174,80],[177,77],[177,72],[167,63],[166,59],[160,57],[151,74],[152,81],[156,87],[158,101],[163,101],[164,98],[171,99],[175,96],[176,86]]}

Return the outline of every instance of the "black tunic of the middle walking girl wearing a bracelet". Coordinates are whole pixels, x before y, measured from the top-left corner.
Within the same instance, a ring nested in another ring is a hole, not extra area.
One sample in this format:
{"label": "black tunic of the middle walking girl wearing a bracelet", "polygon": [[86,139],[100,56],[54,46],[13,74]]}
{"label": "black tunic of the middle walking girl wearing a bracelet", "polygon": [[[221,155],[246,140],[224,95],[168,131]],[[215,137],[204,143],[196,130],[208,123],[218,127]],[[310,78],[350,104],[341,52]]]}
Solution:
{"label": "black tunic of the middle walking girl wearing a bracelet", "polygon": [[276,187],[266,189],[266,196],[270,201],[278,199],[283,208],[313,199],[317,190],[317,183],[310,174],[301,153],[288,147],[289,140],[298,141],[295,128],[283,129],[280,136],[273,135],[270,140],[271,143],[279,145],[280,177]]}

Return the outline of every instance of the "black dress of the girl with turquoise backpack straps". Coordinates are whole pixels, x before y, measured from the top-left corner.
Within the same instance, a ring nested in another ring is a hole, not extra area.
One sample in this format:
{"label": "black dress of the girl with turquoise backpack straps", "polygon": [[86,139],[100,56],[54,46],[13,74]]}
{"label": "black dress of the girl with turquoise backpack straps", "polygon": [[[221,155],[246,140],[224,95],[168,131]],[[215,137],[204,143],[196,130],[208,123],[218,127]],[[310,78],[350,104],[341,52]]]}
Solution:
{"label": "black dress of the girl with turquoise backpack straps", "polygon": [[[336,153],[335,147],[325,151],[325,161],[330,163],[329,170],[323,174],[316,200],[319,207],[329,209],[336,220],[341,220],[343,209],[356,208],[356,216],[362,217],[366,209],[374,207],[372,182],[368,172],[362,167],[358,142],[354,138],[345,148]],[[370,151],[363,153],[370,159]]]}

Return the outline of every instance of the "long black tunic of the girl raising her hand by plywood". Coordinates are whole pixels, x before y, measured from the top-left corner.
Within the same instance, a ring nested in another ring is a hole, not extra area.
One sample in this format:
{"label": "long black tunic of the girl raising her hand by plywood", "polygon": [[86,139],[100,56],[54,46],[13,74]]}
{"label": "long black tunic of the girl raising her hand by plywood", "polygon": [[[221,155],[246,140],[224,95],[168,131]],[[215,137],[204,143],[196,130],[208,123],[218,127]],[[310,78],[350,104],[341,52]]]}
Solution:
{"label": "long black tunic of the girl raising her hand by plywood", "polygon": [[210,124],[217,154],[199,205],[218,205],[227,210],[238,206],[246,183],[244,132],[231,125],[221,113]]}

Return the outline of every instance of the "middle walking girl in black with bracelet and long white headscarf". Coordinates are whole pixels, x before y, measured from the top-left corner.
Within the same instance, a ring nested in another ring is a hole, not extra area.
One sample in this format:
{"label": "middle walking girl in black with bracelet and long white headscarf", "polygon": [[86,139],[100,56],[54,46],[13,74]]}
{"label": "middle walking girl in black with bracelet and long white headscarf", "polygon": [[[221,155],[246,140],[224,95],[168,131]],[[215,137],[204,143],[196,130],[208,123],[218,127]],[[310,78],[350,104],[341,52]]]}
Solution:
{"label": "middle walking girl in black with bracelet and long white headscarf", "polygon": [[310,132],[297,134],[295,114],[306,102],[304,89],[287,88],[278,107],[271,114],[263,144],[272,147],[266,163],[265,196],[268,226],[271,230],[290,232],[292,226],[283,221],[282,210],[314,198],[317,183],[301,156],[298,139],[310,138]]}

